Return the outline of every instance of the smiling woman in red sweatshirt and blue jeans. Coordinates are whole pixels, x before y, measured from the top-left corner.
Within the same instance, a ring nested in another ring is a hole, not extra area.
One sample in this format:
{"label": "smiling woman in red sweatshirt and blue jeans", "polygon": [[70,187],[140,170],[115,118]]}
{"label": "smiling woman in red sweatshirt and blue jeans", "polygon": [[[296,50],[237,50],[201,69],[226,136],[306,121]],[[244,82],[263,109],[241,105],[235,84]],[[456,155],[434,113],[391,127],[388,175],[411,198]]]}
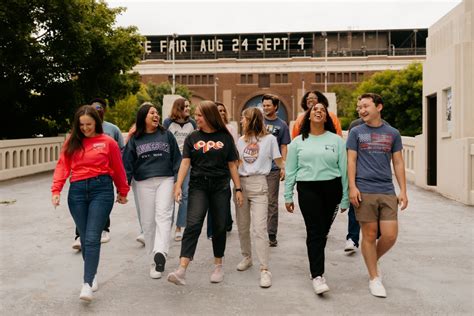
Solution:
{"label": "smiling woman in red sweatshirt and blue jeans", "polygon": [[59,205],[60,193],[70,177],[68,206],[80,233],[84,259],[84,284],[80,299],[92,300],[98,290],[96,273],[99,265],[100,237],[114,204],[127,203],[130,190],[122,164],[120,149],[114,139],[105,135],[97,110],[80,107],[54,171],[51,186],[52,203]]}

